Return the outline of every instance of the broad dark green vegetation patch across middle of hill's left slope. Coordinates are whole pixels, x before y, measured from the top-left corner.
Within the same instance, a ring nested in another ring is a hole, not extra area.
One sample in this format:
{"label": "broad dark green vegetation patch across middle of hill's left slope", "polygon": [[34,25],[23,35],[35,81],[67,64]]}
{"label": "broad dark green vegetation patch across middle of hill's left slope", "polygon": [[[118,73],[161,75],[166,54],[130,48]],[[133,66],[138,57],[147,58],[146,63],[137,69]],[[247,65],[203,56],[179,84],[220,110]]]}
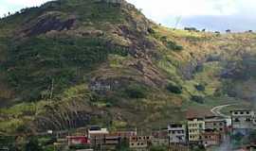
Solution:
{"label": "broad dark green vegetation patch across middle of hill's left slope", "polygon": [[49,92],[51,84],[55,93],[62,92],[82,81],[80,74],[104,62],[108,54],[127,55],[124,49],[106,45],[103,39],[30,38],[9,52],[7,69],[13,69],[8,73],[9,83],[17,92],[23,92],[24,97],[29,92],[25,98],[29,100],[39,99],[42,92]]}

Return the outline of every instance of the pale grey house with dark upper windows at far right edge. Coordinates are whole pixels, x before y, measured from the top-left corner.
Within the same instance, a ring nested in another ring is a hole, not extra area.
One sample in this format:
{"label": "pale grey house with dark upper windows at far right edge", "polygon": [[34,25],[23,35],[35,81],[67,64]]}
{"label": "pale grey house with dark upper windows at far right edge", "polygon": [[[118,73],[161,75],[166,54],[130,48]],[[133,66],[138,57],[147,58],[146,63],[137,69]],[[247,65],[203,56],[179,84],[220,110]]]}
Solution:
{"label": "pale grey house with dark upper windows at far right edge", "polygon": [[255,129],[255,113],[250,109],[236,109],[230,111],[232,131],[234,134],[240,132],[247,134],[251,129]]}

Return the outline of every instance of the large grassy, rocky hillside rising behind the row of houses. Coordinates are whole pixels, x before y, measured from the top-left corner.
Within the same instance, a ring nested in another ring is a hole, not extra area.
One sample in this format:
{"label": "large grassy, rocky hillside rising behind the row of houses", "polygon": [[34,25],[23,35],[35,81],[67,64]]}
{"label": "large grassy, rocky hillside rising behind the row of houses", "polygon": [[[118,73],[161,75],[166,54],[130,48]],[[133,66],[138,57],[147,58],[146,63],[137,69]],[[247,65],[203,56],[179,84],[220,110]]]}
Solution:
{"label": "large grassy, rocky hillside rising behind the row of houses", "polygon": [[0,20],[0,132],[159,127],[254,101],[256,34],[156,25],[123,0],[59,0]]}

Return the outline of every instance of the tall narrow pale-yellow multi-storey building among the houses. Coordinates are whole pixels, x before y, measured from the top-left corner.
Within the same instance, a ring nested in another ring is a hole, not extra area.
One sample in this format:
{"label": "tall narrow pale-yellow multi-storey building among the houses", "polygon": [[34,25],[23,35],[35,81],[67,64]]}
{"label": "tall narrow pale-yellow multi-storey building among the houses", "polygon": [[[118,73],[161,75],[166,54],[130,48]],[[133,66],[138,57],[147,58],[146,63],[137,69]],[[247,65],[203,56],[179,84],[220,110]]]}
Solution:
{"label": "tall narrow pale-yellow multi-storey building among the houses", "polygon": [[189,118],[188,119],[188,133],[190,143],[201,143],[200,135],[204,132],[205,121],[203,118]]}

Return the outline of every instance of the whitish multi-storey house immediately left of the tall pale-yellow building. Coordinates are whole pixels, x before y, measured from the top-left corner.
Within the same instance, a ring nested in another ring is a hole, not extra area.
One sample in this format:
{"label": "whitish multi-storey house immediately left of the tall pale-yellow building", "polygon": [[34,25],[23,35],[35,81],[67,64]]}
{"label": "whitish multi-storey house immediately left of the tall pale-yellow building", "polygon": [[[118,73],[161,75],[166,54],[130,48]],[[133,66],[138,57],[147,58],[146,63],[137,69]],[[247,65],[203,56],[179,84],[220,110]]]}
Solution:
{"label": "whitish multi-storey house immediately left of the tall pale-yellow building", "polygon": [[182,123],[172,123],[168,126],[170,143],[187,143],[187,126]]}

